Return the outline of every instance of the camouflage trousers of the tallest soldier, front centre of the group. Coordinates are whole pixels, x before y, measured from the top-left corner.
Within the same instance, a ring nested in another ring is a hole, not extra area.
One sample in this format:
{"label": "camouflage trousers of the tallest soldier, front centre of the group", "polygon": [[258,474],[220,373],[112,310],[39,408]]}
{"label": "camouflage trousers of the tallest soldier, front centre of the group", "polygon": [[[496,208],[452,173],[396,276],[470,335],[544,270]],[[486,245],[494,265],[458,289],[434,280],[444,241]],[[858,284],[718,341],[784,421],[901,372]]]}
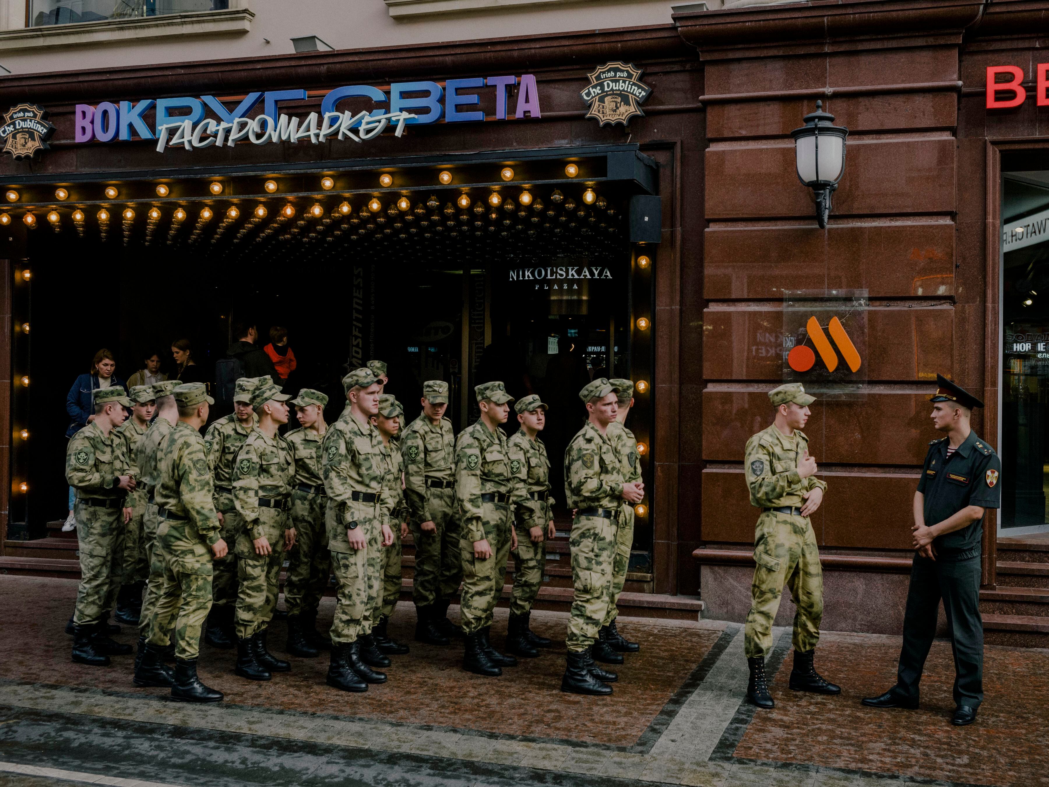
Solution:
{"label": "camouflage trousers of the tallest soldier, front centre of the group", "polygon": [[[331,641],[348,644],[362,635],[371,633],[376,620],[376,599],[382,587],[382,518],[378,506],[350,503],[357,528],[367,543],[363,549],[354,549],[346,543],[346,526],[338,510],[342,506],[328,506],[328,544],[331,548],[331,570],[335,573],[335,619],[331,622]],[[337,531],[342,538],[335,538]]]}

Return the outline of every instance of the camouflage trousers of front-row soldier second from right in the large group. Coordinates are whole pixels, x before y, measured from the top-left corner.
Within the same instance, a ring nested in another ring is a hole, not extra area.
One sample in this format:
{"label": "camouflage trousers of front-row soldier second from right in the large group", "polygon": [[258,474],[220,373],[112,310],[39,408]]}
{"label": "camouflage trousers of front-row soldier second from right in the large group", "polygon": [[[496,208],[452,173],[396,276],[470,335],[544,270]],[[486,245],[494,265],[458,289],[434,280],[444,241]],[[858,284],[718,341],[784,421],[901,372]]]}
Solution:
{"label": "camouflage trousers of front-row soldier second from right in the large group", "polygon": [[466,535],[459,539],[463,555],[459,618],[464,634],[473,634],[492,625],[492,611],[502,595],[507,558],[510,556],[510,528],[514,526],[513,507],[506,503],[481,503],[480,510],[492,556],[475,558],[473,542]]}

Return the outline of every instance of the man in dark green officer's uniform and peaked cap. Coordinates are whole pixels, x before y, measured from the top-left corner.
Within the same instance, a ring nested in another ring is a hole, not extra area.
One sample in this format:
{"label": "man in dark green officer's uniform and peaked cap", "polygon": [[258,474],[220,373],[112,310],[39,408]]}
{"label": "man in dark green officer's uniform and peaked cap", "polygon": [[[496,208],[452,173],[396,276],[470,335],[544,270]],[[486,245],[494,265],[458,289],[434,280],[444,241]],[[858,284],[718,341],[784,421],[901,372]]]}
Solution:
{"label": "man in dark green officer's uniform and peaked cap", "polygon": [[955,654],[955,715],[971,724],[983,701],[983,620],[980,617],[980,546],[987,508],[1001,506],[1002,462],[969,427],[983,402],[937,375],[929,397],[933,425],[947,436],[934,440],[915,493],[911,587],[903,617],[903,648],[896,685],[863,700],[871,707],[918,707],[918,682],[936,634],[940,599]]}

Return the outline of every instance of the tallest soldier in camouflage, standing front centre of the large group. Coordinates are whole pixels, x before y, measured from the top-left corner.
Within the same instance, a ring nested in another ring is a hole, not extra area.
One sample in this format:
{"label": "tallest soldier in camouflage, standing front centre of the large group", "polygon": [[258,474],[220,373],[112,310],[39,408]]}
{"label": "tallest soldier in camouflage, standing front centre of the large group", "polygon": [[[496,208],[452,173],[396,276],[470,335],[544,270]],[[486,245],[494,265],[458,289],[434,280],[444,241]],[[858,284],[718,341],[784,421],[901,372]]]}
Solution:
{"label": "tallest soldier in camouflage, standing front centre of the large group", "polygon": [[331,624],[327,683],[345,692],[383,683],[389,658],[374,647],[371,615],[379,593],[383,546],[393,533],[382,521],[382,438],[369,419],[379,412],[382,387],[367,368],[342,379],[349,406],[324,435],[324,487],[328,549],[338,590]]}

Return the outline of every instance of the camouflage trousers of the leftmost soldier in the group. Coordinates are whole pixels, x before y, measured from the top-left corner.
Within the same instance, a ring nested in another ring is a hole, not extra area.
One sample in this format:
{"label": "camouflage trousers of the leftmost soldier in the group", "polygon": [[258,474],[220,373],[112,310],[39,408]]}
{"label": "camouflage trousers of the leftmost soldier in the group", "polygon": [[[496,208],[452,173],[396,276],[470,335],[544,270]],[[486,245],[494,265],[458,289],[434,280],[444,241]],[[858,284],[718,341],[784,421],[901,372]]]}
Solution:
{"label": "camouflage trousers of the leftmost soldier in the group", "polygon": [[116,604],[124,560],[124,511],[86,505],[73,506],[80,540],[80,588],[72,620],[77,626],[99,622]]}

